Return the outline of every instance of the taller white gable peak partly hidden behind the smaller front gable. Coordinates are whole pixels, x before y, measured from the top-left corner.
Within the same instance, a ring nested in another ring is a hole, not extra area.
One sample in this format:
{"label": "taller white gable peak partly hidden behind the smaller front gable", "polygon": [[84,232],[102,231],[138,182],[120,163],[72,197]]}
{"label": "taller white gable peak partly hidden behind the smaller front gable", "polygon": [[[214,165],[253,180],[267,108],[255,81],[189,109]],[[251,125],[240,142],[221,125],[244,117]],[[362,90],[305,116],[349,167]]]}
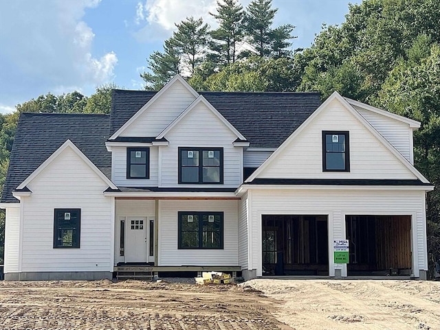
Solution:
{"label": "taller white gable peak partly hidden behind the smaller front gable", "polygon": [[142,108],[137,110],[109,140],[118,137],[156,137],[197,97],[199,94],[184,78],[175,75]]}

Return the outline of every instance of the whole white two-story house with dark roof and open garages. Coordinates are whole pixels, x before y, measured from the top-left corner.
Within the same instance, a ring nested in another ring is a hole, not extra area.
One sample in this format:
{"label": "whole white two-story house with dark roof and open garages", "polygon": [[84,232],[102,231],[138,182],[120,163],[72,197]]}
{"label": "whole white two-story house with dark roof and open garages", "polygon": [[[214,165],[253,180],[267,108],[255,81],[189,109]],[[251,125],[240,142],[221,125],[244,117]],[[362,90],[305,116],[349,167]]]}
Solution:
{"label": "whole white two-story house with dark roof and open garages", "polygon": [[419,126],[336,92],[197,93],[178,75],[113,91],[110,115],[24,113],[0,204],[5,279],[424,279]]}

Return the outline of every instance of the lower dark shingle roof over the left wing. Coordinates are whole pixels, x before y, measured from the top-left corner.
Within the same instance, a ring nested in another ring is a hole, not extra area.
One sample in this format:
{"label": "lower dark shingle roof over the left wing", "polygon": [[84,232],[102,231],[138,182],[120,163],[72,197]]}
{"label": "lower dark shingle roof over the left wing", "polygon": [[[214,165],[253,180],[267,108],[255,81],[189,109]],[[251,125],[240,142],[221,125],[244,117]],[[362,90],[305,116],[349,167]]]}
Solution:
{"label": "lower dark shingle roof over the left wing", "polygon": [[19,118],[1,202],[18,202],[12,191],[70,139],[106,176],[111,177],[109,115],[22,113]]}

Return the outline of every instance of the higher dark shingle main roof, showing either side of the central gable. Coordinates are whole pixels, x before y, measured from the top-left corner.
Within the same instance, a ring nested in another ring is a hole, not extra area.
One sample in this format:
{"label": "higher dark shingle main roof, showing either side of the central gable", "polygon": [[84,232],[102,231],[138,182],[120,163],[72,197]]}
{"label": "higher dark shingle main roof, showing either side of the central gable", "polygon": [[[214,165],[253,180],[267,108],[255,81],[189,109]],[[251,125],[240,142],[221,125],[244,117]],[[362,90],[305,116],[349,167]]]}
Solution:
{"label": "higher dark shingle main roof, showing either side of the central gable", "polygon": [[[156,92],[113,90],[111,134]],[[251,147],[276,148],[320,106],[319,93],[199,92]]]}

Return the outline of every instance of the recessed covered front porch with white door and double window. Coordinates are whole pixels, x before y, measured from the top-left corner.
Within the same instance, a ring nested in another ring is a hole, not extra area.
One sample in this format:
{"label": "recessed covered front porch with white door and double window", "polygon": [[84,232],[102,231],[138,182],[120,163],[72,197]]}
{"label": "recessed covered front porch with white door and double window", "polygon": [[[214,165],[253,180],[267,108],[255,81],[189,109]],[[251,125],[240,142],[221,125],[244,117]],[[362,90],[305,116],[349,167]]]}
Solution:
{"label": "recessed covered front porch with white door and double window", "polygon": [[239,198],[224,192],[208,197],[175,195],[115,196],[115,277],[241,271]]}

